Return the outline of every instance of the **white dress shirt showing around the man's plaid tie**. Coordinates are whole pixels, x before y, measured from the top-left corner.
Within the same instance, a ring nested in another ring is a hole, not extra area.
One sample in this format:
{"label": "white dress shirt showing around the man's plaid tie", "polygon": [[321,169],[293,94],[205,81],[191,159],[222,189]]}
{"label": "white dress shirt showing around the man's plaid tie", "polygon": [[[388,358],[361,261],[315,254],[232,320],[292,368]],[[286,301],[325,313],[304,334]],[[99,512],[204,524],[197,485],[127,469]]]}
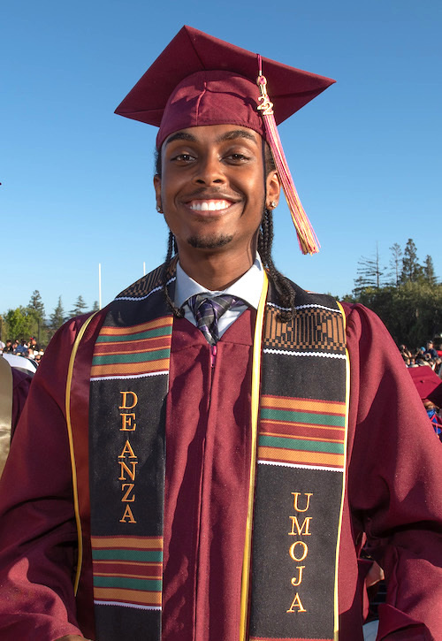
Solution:
{"label": "white dress shirt showing around the man's plaid tie", "polygon": [[[178,307],[184,306],[185,317],[190,323],[196,326],[193,311],[187,305],[187,300],[194,296],[194,294],[207,294],[207,298],[213,298],[220,294],[231,294],[235,298],[240,298],[244,301],[243,305],[235,306],[234,309],[227,309],[218,321],[218,334],[221,337],[225,330],[227,330],[235,320],[240,317],[242,312],[246,311],[248,307],[258,309],[259,299],[263,290],[264,271],[261,258],[256,254],[255,263],[250,267],[240,279],[224,289],[221,292],[211,292],[205,289],[202,285],[187,276],[186,271],[183,270],[181,265],[177,264],[177,282],[175,287],[175,305]],[[185,304],[186,303],[186,304]]]}

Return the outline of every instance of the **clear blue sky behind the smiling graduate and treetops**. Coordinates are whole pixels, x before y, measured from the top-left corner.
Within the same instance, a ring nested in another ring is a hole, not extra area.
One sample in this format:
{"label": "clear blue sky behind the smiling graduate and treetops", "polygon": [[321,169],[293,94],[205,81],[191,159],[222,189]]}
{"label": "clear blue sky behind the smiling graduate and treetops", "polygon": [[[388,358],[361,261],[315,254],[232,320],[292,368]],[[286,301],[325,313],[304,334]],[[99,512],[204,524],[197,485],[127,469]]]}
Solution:
{"label": "clear blue sky behind the smiling graduate and treetops", "polygon": [[0,23],[0,312],[34,289],[103,304],[162,263],[156,130],[113,114],[183,24],[337,83],[280,127],[319,255],[302,256],[286,205],[274,258],[299,285],[349,293],[361,256],[413,238],[440,251],[442,4],[426,0],[29,0]]}

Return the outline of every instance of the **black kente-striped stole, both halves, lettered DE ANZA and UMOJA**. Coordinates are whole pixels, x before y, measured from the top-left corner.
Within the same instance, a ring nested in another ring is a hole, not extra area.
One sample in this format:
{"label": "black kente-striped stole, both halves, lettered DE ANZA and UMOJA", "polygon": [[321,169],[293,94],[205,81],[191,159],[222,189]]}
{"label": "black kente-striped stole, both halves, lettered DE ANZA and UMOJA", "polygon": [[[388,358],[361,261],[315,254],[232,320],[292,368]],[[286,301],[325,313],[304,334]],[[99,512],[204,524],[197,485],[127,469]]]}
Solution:
{"label": "black kente-striped stole, both halves, lettered DE ANZA and UMOJA", "polygon": [[[165,397],[173,324],[161,269],[110,304],[92,362],[95,627],[96,638],[106,641],[161,640]],[[172,297],[174,281],[172,273]],[[293,287],[293,320],[279,320],[271,286],[263,319],[243,635],[253,641],[338,639],[348,404],[345,316],[330,296]]]}

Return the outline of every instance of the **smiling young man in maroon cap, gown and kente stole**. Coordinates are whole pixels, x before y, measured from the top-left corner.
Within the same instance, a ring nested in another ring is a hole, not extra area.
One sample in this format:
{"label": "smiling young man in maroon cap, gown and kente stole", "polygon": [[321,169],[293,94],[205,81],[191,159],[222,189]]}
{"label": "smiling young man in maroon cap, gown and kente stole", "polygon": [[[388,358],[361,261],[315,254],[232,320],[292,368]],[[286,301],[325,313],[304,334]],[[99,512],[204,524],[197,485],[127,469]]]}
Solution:
{"label": "smiling young man in maroon cap, gown and kente stole", "polygon": [[281,182],[316,250],[271,102],[281,121],[330,83],[183,27],[118,107],[160,127],[168,256],[34,377],[0,490],[2,639],[360,641],[363,532],[379,638],[442,638],[440,460],[400,355],[271,260]]}

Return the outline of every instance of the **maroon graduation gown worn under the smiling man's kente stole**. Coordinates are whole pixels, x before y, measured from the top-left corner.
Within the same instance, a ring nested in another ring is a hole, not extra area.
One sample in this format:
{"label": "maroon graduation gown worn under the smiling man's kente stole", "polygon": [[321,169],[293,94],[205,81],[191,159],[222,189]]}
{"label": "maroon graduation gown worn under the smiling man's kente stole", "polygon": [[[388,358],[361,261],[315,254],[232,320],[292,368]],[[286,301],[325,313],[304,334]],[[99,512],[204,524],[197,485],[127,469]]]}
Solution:
{"label": "maroon graduation gown worn under the smiling man's kente stole", "polygon": [[[362,639],[357,548],[365,530],[389,580],[379,638],[431,639],[419,623],[425,622],[441,640],[440,444],[383,324],[361,306],[345,309],[351,406],[339,638]],[[212,370],[202,334],[185,319],[174,325],[163,641],[238,638],[253,322],[246,312],[225,332]],[[0,486],[0,637],[5,641],[79,634],[79,621],[92,636],[88,550],[78,612],[72,594],[76,530],[64,405],[79,324],[66,324],[45,354]],[[86,360],[77,367],[84,375],[72,385],[73,413],[85,422]]]}

